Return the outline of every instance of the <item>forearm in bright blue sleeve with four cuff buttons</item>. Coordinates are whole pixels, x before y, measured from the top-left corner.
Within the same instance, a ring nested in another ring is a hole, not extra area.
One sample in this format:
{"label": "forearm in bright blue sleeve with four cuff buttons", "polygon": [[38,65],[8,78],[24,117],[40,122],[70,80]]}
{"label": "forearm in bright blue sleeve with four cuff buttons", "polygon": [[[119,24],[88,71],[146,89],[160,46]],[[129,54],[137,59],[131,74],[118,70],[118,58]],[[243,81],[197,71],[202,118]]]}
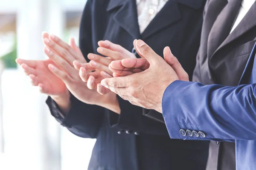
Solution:
{"label": "forearm in bright blue sleeve with four cuff buttons", "polygon": [[[175,139],[256,139],[256,85],[228,87],[176,81],[163,96],[163,117]],[[180,129],[205,137],[181,136]]]}

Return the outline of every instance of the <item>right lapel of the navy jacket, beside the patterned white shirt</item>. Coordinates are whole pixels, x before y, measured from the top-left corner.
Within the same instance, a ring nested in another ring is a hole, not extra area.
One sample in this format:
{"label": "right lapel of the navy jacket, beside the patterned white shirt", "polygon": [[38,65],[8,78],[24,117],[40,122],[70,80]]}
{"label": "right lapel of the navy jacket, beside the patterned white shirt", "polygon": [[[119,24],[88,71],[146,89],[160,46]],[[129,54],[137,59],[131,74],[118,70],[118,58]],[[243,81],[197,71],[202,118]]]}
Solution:
{"label": "right lapel of the navy jacket, beside the patterned white shirt", "polygon": [[[203,6],[204,2],[204,0],[169,0],[143,31],[143,39],[145,40],[161,29],[171,26],[181,19],[178,3],[198,9]],[[169,19],[166,20],[166,17]]]}

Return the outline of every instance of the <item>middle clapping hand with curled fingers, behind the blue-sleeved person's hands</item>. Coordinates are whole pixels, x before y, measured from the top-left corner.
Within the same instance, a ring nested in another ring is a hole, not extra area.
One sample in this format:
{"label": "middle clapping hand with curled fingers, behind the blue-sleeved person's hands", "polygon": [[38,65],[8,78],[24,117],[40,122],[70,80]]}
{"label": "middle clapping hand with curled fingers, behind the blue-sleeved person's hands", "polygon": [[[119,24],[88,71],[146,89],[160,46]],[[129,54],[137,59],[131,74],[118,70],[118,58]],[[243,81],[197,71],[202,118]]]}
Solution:
{"label": "middle clapping hand with curled fingers, behind the blue-sleeved person's hands", "polygon": [[[134,40],[135,42],[135,40]],[[87,86],[90,89],[98,88],[97,91],[100,94],[106,94],[110,90],[106,89],[105,87],[98,84],[103,78],[110,78],[113,72],[108,68],[108,65],[113,60],[125,59],[125,58],[136,58],[136,56],[131,53],[130,51],[126,50],[120,45],[114,44],[108,40],[99,41],[98,42],[99,48],[97,51],[102,54],[102,57],[97,54],[88,54],[88,59],[90,59],[90,63],[81,64],[77,61],[73,62],[75,68],[79,71],[79,75],[84,82],[87,82]],[[88,76],[86,71],[95,71],[95,76]]]}

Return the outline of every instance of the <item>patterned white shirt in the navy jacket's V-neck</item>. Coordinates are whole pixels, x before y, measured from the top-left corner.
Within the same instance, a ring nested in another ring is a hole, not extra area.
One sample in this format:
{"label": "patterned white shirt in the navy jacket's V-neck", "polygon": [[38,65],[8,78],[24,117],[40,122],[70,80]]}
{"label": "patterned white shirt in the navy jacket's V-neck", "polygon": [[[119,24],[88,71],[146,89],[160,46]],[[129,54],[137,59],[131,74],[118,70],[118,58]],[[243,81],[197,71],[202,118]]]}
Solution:
{"label": "patterned white shirt in the navy jacket's V-neck", "polygon": [[143,33],[148,24],[163,8],[168,0],[137,0],[138,23],[140,33]]}

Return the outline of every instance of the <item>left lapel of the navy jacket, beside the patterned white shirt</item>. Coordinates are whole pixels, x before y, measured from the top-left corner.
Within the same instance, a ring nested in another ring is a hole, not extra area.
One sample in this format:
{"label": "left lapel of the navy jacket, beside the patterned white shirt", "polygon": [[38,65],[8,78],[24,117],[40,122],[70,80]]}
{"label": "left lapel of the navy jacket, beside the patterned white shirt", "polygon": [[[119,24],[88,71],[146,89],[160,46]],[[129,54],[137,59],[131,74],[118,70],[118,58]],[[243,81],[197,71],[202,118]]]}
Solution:
{"label": "left lapel of the navy jacket, beside the patterned white shirt", "polygon": [[107,11],[115,12],[113,20],[131,34],[134,39],[140,38],[135,0],[110,0]]}

